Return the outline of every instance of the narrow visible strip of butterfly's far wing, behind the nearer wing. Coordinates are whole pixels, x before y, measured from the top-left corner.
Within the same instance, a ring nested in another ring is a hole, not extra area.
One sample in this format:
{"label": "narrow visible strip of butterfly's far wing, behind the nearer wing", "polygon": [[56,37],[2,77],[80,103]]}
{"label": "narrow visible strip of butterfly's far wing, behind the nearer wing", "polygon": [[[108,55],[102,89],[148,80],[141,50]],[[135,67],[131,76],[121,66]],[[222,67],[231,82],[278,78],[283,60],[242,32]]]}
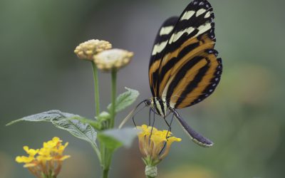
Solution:
{"label": "narrow visible strip of butterfly's far wing, behind the nearer wing", "polygon": [[[152,92],[152,96],[155,97],[155,92],[157,89],[157,79],[158,79],[158,71],[157,68],[160,66],[160,61],[162,59],[162,53],[164,51],[164,47],[166,46],[167,41],[170,38],[170,33],[177,23],[178,17],[171,17],[167,19],[160,30],[157,33],[155,38],[155,43],[152,47],[152,55],[150,56],[150,64],[149,64],[149,80],[150,80],[150,90]],[[171,29],[172,28],[172,29]],[[166,41],[166,42],[165,42]]]}

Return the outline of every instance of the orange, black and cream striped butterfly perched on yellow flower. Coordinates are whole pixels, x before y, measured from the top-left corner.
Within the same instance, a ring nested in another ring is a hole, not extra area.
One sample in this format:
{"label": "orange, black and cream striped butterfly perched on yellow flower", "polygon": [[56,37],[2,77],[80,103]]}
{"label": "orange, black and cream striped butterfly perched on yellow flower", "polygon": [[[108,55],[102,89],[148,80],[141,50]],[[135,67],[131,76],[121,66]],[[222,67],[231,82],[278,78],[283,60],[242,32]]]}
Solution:
{"label": "orange, black and cream striped butterfly perched on yellow flower", "polygon": [[142,101],[164,119],[172,113],[191,139],[202,147],[210,147],[213,142],[193,130],[177,109],[201,102],[219,83],[222,59],[217,58],[218,52],[214,50],[213,19],[211,4],[207,0],[194,0],[180,17],[173,16],[162,23],[150,56],[152,98]]}

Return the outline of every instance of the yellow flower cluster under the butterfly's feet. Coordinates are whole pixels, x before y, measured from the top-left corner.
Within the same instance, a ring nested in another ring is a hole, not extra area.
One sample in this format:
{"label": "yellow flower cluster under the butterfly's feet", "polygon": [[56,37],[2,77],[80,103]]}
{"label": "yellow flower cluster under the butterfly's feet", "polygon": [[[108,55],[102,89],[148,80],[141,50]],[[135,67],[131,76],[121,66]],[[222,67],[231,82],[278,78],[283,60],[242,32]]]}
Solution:
{"label": "yellow flower cluster under the butterfly's feet", "polygon": [[157,130],[155,127],[142,125],[137,127],[142,130],[138,134],[140,152],[147,164],[158,164],[165,158],[172,142],[180,142],[181,138],[170,137],[172,132],[168,130]]}

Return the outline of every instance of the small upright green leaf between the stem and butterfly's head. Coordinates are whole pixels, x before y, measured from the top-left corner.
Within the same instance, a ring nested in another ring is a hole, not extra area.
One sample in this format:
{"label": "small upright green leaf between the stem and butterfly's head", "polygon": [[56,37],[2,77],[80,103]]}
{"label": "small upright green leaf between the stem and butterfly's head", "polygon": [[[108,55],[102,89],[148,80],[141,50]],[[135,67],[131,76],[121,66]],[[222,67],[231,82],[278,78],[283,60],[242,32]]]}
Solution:
{"label": "small upright green leaf between the stem and butterfly's head", "polygon": [[[126,88],[126,87],[125,89],[128,91],[118,95],[118,98],[115,101],[115,112],[119,112],[127,108],[129,105],[133,104],[135,100],[138,98],[138,95],[140,95],[138,90],[133,90],[133,89]],[[109,104],[108,110],[110,110],[111,107],[112,107],[112,104]]]}

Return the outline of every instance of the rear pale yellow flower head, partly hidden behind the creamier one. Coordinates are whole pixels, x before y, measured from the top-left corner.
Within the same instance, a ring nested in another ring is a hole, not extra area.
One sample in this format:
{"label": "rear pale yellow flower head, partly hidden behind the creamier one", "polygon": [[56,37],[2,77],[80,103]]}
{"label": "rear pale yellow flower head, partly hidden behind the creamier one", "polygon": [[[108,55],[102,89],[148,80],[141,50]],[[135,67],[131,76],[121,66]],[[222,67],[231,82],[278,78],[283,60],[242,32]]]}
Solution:
{"label": "rear pale yellow flower head, partly hidden behind the creamier one", "polygon": [[78,58],[93,61],[93,55],[110,48],[112,48],[112,44],[108,41],[92,39],[80,43],[74,50],[74,53],[76,53]]}

